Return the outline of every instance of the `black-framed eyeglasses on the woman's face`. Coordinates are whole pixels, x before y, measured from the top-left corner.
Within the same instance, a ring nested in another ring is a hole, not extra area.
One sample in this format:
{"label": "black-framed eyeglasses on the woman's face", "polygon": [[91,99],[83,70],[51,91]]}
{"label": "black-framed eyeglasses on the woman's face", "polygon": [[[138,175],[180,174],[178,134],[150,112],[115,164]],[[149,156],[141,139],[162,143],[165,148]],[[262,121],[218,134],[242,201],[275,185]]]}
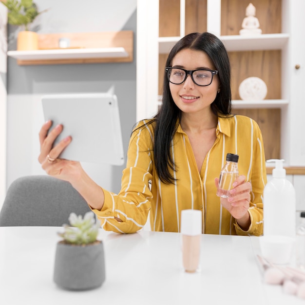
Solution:
{"label": "black-framed eyeglasses on the woman's face", "polygon": [[191,76],[192,81],[198,86],[209,86],[212,83],[213,76],[218,74],[217,70],[185,70],[182,68],[165,68],[168,80],[175,85],[180,85]]}

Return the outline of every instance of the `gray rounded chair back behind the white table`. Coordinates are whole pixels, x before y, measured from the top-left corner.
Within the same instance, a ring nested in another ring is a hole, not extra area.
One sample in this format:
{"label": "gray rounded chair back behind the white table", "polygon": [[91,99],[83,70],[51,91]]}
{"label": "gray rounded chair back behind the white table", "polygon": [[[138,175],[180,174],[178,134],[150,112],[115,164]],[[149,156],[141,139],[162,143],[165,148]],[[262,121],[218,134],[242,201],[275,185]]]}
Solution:
{"label": "gray rounded chair back behind the white table", "polygon": [[69,223],[69,215],[90,211],[69,182],[47,175],[25,176],[9,187],[0,211],[0,226],[51,226]]}

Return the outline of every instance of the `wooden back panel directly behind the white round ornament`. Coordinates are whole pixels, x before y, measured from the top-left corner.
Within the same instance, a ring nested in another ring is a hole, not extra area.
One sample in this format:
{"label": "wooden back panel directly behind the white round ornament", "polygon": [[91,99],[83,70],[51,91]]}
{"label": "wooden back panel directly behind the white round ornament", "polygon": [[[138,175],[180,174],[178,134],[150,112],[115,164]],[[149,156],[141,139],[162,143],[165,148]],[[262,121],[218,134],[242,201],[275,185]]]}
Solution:
{"label": "wooden back panel directly behind the white round ornament", "polygon": [[256,76],[267,85],[266,99],[281,98],[281,51],[229,52],[232,72],[232,99],[240,99],[238,87],[247,77]]}

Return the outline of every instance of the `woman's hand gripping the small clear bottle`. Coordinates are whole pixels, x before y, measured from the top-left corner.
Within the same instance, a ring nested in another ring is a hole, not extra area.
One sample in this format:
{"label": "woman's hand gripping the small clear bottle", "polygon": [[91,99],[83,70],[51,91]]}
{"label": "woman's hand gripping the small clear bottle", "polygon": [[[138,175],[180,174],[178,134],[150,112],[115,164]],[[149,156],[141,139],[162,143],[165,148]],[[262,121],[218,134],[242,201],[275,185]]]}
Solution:
{"label": "woman's hand gripping the small clear bottle", "polygon": [[[215,178],[216,188],[218,183],[219,178]],[[229,198],[220,197],[221,205],[229,211],[244,230],[248,230],[250,226],[250,215],[248,213],[251,198],[250,191],[252,191],[251,183],[246,182],[244,175],[240,175],[233,182],[233,189],[229,191],[231,196]]]}

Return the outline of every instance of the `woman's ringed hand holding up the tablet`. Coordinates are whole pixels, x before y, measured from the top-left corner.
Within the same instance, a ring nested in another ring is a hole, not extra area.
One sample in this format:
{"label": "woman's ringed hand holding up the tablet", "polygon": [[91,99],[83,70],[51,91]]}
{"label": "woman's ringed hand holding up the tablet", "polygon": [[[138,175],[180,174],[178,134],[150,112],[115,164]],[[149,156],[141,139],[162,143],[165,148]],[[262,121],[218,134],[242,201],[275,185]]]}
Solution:
{"label": "woman's ringed hand holding up the tablet", "polygon": [[63,126],[57,125],[49,132],[51,126],[52,121],[48,120],[40,129],[40,154],[38,161],[47,174],[72,183],[73,180],[80,176],[82,171],[80,163],[58,158],[60,153],[71,143],[72,137],[67,136],[54,146],[54,141],[62,132]]}

